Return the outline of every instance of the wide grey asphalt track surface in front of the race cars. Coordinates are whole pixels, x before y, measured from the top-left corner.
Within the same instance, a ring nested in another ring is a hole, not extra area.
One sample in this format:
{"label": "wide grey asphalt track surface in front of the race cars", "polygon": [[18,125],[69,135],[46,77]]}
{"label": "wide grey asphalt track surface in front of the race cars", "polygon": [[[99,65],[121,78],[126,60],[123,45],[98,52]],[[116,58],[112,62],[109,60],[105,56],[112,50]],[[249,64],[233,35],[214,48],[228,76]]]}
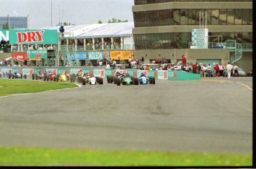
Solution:
{"label": "wide grey asphalt track surface in front of the race cars", "polygon": [[0,108],[0,146],[252,154],[252,77],[104,79],[0,97]]}

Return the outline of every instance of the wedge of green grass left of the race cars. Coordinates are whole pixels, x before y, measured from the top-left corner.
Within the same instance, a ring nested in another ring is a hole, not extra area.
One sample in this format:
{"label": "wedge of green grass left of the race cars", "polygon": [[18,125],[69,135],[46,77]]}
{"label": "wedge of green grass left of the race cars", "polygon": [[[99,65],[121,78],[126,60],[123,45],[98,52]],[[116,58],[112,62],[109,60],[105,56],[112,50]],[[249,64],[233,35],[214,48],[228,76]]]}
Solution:
{"label": "wedge of green grass left of the race cars", "polygon": [[76,87],[74,83],[0,79],[0,96]]}

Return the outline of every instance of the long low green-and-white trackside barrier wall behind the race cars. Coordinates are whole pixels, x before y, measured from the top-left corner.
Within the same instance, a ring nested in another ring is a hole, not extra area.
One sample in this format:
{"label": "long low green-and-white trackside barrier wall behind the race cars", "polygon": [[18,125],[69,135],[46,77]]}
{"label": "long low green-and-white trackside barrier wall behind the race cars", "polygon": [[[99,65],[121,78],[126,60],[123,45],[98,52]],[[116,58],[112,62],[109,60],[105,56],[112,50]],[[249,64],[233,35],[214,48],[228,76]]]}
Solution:
{"label": "long low green-and-white trackside barrier wall behind the race cars", "polygon": [[36,72],[53,72],[60,75],[62,72],[68,71],[68,74],[77,74],[82,69],[85,73],[93,73],[96,77],[108,77],[114,76],[116,72],[129,73],[132,77],[140,77],[143,73],[148,77],[155,77],[157,80],[199,80],[200,74],[188,73],[184,71],[168,71],[168,70],[138,70],[138,69],[88,69],[88,68],[73,68],[73,67],[61,67],[61,68],[48,68],[48,67],[4,67],[0,70],[3,73],[19,72],[22,75],[33,75]]}

